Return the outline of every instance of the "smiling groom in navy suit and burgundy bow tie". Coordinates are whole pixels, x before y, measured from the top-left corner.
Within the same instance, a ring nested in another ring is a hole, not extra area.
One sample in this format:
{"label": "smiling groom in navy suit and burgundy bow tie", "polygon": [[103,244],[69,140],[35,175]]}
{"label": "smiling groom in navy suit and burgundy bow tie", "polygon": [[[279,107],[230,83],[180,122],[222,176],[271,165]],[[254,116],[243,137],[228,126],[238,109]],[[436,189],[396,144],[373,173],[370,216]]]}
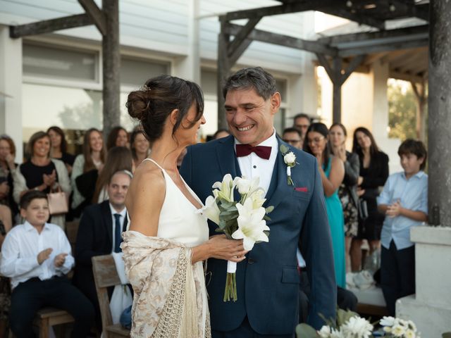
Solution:
{"label": "smiling groom in navy suit and burgundy bow tie", "polygon": [[[273,76],[245,68],[223,88],[229,137],[188,148],[180,173],[202,201],[211,186],[232,177],[260,177],[266,191],[269,242],[254,246],[237,264],[237,301],[223,301],[227,262],[210,259],[206,283],[212,336],[221,338],[294,337],[298,321],[299,272],[296,248],[307,261],[311,284],[309,324],[319,329],[320,315],[335,318],[336,285],[330,230],[318,163],[313,156],[277,137],[273,120],[280,107]],[[299,163],[291,169],[279,150],[285,144]],[[211,223],[210,234],[216,225]]]}

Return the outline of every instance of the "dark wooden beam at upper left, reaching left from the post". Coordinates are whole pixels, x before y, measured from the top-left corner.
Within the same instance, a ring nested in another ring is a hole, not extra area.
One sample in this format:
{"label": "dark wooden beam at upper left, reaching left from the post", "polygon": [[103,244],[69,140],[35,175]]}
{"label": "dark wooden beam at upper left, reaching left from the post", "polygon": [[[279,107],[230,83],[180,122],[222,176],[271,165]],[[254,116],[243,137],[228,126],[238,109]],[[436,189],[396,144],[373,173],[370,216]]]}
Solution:
{"label": "dark wooden beam at upper left, reaching left from the post", "polygon": [[27,23],[25,25],[11,26],[9,36],[13,39],[55,32],[56,30],[67,30],[69,28],[92,25],[92,18],[84,14],[70,15],[63,18],[43,20],[37,23]]}

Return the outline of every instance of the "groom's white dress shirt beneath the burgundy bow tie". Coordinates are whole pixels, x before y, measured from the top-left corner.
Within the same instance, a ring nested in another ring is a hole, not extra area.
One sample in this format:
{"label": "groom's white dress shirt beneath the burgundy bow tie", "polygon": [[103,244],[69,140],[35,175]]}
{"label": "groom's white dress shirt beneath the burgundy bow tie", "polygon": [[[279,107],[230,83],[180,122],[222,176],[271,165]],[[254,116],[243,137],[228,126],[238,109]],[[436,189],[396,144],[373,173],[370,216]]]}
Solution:
{"label": "groom's white dress shirt beneath the burgundy bow tie", "polygon": [[[241,142],[235,139],[235,154],[237,144],[241,144]],[[273,177],[276,158],[279,154],[276,130],[273,131],[273,134],[268,137],[268,139],[265,139],[264,142],[261,142],[261,144],[258,145],[271,146],[271,155],[267,160],[257,156],[257,154],[253,152],[247,156],[237,157],[237,160],[240,165],[241,175],[246,176],[247,179],[252,179],[253,177],[258,176],[260,178],[259,187],[265,189],[266,195],[269,189],[269,184],[271,184],[271,177]]]}

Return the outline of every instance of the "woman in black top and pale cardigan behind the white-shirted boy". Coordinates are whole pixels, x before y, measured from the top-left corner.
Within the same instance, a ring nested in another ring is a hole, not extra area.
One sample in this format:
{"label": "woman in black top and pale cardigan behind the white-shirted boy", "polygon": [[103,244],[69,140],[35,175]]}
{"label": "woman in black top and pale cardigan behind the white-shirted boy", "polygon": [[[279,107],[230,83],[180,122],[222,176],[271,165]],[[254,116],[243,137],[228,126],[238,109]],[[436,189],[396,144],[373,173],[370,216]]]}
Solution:
{"label": "woman in black top and pale cardigan behind the white-shirted boy", "polygon": [[[50,137],[47,132],[35,132],[27,144],[30,160],[18,166],[13,173],[14,199],[18,202],[30,190],[49,194],[58,187],[70,195],[72,188],[66,165],[62,161],[50,158]],[[51,223],[64,229],[65,215],[51,216]]]}

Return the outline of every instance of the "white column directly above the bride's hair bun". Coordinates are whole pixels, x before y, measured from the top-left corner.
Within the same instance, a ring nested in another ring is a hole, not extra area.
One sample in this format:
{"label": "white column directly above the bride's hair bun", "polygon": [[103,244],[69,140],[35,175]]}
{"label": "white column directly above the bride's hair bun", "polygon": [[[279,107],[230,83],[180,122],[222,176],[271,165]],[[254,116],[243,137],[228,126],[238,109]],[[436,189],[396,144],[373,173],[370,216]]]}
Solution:
{"label": "white column directly above the bride's hair bun", "polygon": [[200,84],[199,0],[188,1],[187,56],[176,58],[174,74]]}

